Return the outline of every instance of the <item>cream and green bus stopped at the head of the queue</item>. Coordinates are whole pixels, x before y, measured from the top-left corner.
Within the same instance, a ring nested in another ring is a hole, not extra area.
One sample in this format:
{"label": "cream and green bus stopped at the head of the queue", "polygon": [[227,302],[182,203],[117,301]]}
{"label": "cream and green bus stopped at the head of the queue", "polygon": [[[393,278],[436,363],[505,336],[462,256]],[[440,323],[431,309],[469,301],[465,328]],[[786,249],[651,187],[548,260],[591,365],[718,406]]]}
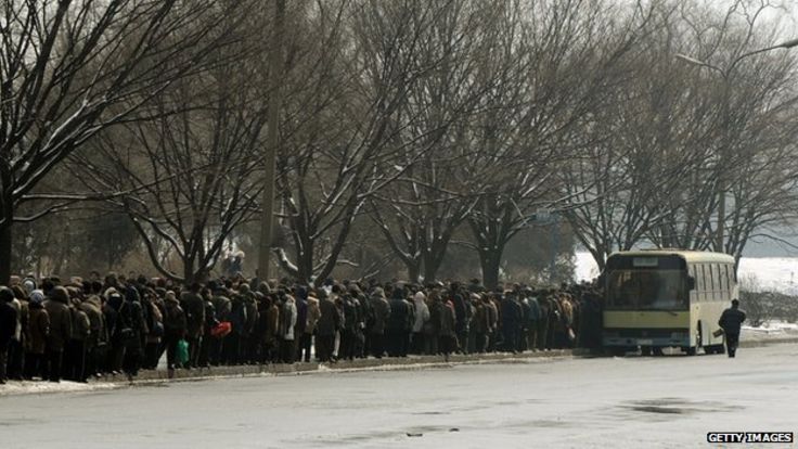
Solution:
{"label": "cream and green bus stopped at the head of the queue", "polygon": [[723,354],[718,320],[738,297],[734,258],[696,251],[614,253],[603,273],[604,347],[644,355],[675,347]]}

